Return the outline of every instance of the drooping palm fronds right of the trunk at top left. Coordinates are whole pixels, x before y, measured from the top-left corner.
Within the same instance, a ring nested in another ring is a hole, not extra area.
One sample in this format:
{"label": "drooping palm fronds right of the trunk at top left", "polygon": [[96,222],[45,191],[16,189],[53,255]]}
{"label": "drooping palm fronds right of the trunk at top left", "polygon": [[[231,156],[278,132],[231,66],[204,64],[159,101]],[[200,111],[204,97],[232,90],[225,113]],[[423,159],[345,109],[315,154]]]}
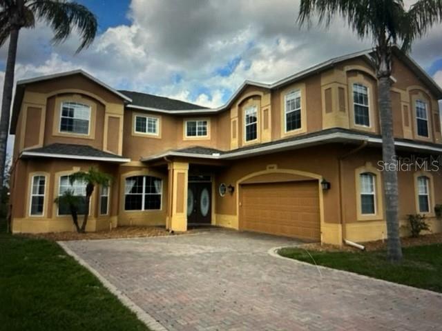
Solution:
{"label": "drooping palm fronds right of the trunk at top left", "polygon": [[28,8],[35,15],[46,20],[54,30],[53,43],[65,41],[73,28],[76,28],[81,37],[81,44],[77,52],[87,48],[95,39],[97,33],[97,17],[85,6],[76,2],[63,0],[34,0]]}

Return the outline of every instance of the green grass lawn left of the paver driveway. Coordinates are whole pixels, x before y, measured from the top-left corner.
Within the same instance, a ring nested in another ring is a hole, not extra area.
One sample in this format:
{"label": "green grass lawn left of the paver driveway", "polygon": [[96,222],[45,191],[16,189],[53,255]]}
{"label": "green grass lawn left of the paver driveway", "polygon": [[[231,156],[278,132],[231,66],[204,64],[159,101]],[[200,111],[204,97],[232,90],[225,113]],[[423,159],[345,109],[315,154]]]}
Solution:
{"label": "green grass lawn left of the paver driveway", "polygon": [[148,330],[57,243],[0,229],[0,330]]}

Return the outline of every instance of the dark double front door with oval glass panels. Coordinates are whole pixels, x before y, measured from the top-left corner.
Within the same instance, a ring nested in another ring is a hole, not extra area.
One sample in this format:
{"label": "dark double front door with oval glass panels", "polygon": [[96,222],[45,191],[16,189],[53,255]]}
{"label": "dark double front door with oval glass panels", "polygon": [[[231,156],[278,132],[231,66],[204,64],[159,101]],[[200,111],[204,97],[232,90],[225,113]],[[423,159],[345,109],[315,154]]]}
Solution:
{"label": "dark double front door with oval glass panels", "polygon": [[187,223],[211,223],[211,183],[189,183],[187,191]]}

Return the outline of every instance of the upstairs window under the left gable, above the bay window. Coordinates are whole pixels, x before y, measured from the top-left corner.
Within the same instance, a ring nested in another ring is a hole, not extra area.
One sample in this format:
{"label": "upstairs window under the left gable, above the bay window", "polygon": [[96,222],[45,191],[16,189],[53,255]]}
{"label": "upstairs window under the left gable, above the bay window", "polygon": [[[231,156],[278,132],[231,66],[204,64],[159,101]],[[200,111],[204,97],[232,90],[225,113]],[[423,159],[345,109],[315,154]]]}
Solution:
{"label": "upstairs window under the left gable, above the bay window", "polygon": [[77,102],[61,103],[60,132],[89,134],[90,107]]}

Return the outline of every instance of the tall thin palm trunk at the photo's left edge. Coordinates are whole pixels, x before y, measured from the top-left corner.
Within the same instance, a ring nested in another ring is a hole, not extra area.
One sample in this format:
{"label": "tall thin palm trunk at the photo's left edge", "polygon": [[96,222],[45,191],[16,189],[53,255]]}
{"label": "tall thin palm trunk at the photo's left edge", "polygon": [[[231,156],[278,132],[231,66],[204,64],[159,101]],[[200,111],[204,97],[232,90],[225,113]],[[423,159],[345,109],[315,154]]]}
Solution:
{"label": "tall thin palm trunk at the photo's left edge", "polygon": [[6,162],[6,146],[8,144],[8,131],[10,121],[10,109],[12,103],[12,89],[14,88],[15,59],[17,57],[17,42],[19,40],[19,28],[13,28],[9,36],[8,59],[6,61],[5,81],[3,97],[1,101],[0,119],[0,185],[3,186]]}

